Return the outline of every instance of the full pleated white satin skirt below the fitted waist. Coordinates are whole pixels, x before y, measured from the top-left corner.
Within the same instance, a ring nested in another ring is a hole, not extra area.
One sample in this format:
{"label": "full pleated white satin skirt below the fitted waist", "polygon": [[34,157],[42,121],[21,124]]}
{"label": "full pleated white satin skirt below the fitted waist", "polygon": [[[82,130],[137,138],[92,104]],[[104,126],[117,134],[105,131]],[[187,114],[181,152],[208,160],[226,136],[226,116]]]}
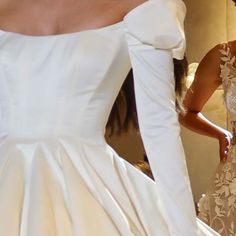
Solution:
{"label": "full pleated white satin skirt below the fitted waist", "polygon": [[[155,182],[107,144],[0,145],[0,236],[173,236],[161,208]],[[199,220],[198,228],[217,235]]]}

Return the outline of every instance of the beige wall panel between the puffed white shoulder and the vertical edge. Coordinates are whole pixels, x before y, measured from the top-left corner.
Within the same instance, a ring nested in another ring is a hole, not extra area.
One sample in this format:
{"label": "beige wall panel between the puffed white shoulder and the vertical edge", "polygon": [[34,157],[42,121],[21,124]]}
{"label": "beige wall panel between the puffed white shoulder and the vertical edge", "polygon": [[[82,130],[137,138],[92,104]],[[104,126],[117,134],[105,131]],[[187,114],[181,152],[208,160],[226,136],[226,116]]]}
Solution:
{"label": "beige wall panel between the puffed white shoulder and the vertical edge", "polygon": [[226,40],[226,0],[185,0],[187,55],[199,61],[219,42]]}

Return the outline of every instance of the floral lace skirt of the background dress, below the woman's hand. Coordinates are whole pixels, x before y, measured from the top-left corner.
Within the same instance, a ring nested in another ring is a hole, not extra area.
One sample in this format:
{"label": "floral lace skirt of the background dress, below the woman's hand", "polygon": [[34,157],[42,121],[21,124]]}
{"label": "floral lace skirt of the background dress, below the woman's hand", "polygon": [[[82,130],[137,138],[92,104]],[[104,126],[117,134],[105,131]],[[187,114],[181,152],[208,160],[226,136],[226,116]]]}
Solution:
{"label": "floral lace skirt of the background dress, below the woman's hand", "polygon": [[236,236],[236,146],[220,163],[214,182],[199,201],[199,218],[223,236]]}

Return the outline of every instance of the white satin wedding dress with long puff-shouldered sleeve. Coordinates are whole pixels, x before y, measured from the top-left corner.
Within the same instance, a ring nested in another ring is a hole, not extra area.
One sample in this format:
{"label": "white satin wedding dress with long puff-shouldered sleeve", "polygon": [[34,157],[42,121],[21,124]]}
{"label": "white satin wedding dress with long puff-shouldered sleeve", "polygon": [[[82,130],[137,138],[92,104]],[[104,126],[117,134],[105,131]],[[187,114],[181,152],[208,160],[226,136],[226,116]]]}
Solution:
{"label": "white satin wedding dress with long puff-shouldered sleeve", "polygon": [[[99,29],[0,31],[0,236],[217,235],[196,221],[175,112],[184,15],[151,0]],[[104,139],[131,66],[155,183]]]}

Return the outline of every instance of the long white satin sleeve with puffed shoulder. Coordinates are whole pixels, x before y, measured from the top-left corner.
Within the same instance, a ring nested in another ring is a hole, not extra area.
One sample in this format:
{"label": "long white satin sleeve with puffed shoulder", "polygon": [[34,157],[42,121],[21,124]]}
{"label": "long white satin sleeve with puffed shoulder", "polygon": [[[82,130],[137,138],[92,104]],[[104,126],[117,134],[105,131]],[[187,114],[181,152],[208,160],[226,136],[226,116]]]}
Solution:
{"label": "long white satin sleeve with puffed shoulder", "polygon": [[173,58],[184,56],[184,17],[181,0],[151,0],[124,18],[140,132],[172,236],[197,235],[175,110]]}

